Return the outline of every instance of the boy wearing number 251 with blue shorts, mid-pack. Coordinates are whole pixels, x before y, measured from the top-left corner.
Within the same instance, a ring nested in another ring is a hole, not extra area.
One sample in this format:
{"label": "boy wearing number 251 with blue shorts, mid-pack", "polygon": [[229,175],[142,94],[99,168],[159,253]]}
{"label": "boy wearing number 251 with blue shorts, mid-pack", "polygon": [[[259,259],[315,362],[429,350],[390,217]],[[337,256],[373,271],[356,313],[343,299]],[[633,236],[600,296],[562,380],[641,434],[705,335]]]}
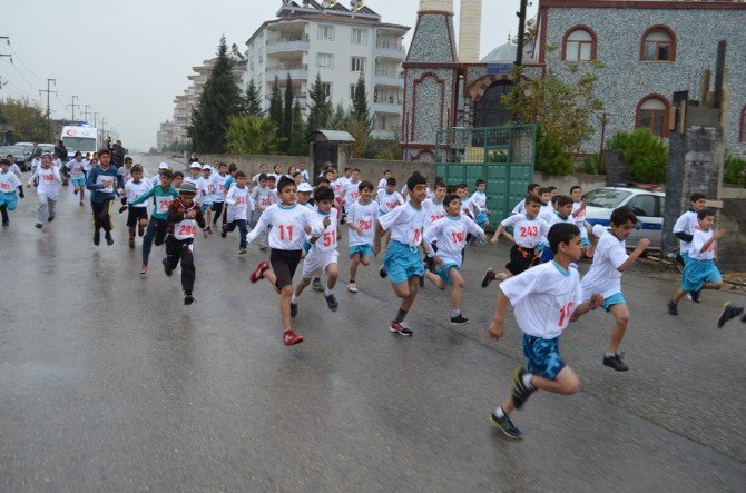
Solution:
{"label": "boy wearing number 251 with blue shorts, mid-pack", "polygon": [[367,266],[373,256],[373,240],[375,239],[375,221],[379,217],[379,205],[373,201],[373,184],[365,180],[357,185],[360,199],[350,205],[347,211],[347,228],[350,229],[350,282],[347,290],[357,293],[355,276],[360,264]]}

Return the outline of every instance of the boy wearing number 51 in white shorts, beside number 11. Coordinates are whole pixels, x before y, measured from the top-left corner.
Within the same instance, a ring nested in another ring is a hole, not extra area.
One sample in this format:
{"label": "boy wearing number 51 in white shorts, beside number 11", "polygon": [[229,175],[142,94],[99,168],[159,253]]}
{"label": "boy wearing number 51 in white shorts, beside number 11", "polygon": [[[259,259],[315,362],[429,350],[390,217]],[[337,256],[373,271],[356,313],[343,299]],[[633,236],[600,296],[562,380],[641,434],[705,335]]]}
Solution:
{"label": "boy wearing number 51 in white shorts, beside number 11", "polygon": [[340,275],[337,266],[340,253],[336,250],[340,221],[336,209],[332,207],[334,191],[330,188],[320,188],[314,193],[314,201],[318,215],[317,221],[324,224],[325,228],[320,237],[310,240],[311,249],[303,259],[303,277],[291,297],[291,317],[295,317],[298,313],[298,298],[303,289],[308,287],[314,275],[321,275],[321,273],[326,273],[326,286],[324,287],[326,306],[332,312],[336,312],[340,307],[334,296],[334,285]]}

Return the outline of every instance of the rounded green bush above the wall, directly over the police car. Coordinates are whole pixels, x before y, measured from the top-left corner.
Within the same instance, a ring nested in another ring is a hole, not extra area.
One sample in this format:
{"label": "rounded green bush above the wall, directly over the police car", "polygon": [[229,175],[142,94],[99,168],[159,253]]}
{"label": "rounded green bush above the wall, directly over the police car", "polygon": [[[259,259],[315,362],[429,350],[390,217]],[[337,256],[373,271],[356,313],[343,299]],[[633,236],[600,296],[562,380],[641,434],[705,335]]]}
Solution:
{"label": "rounded green bush above the wall, directly over the police car", "polygon": [[607,149],[621,150],[621,160],[632,181],[662,184],[668,167],[668,149],[648,128],[632,132],[620,131],[606,145]]}

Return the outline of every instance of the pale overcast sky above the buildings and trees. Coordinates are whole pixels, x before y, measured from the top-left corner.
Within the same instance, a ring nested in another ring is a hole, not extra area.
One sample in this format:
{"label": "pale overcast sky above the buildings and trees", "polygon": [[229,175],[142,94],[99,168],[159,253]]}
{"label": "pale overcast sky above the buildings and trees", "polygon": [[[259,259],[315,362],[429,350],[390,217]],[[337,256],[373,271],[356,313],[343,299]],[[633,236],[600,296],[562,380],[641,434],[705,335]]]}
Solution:
{"label": "pale overcast sky above the buildings and trees", "polygon": [[[346,0],[343,0],[346,3]],[[130,150],[156,144],[158,125],[173,118],[174,97],[188,87],[192,67],[214,56],[222,34],[244,42],[274,19],[281,0],[2,0],[0,97],[29,96],[46,106],[47,78],[57,79],[53,118],[70,118],[71,96],[106,118]],[[367,0],[384,22],[414,27],[418,0]],[[458,31],[458,8],[455,1]],[[517,31],[519,0],[484,0],[481,56]],[[537,1],[534,0],[534,3]],[[536,13],[536,4],[529,8]],[[46,26],[46,27],[45,27]],[[410,36],[406,38],[409,46]],[[76,118],[84,108],[76,108]],[[92,122],[92,116],[89,117]]]}

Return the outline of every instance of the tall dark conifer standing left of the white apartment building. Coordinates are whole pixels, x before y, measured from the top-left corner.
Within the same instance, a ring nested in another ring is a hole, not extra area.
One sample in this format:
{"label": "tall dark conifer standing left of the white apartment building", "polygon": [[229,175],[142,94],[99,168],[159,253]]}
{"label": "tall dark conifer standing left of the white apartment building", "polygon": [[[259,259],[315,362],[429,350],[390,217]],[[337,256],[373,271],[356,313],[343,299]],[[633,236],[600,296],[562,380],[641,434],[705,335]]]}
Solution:
{"label": "tall dark conifer standing left of the white apartment building", "polygon": [[225,152],[228,117],[242,111],[243,98],[233,76],[233,65],[225,37],[222,37],[213,70],[187,128],[197,152]]}

